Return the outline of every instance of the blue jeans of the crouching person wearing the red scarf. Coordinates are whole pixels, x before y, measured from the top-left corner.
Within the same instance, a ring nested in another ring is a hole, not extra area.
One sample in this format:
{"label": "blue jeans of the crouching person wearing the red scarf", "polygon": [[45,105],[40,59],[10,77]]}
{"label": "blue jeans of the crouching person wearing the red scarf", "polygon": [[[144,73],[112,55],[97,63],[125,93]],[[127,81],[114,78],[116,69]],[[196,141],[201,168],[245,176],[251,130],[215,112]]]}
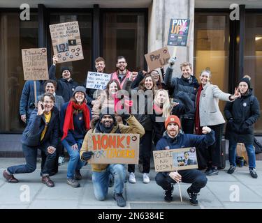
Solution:
{"label": "blue jeans of the crouching person wearing the red scarf", "polygon": [[64,148],[66,148],[66,151],[69,155],[69,162],[67,166],[67,178],[72,178],[72,179],[74,178],[75,171],[80,170],[85,165],[85,162],[82,162],[82,160],[80,160],[80,155],[79,155],[79,151],[82,147],[83,139],[76,139],[75,141],[76,144],[78,144],[78,150],[76,151],[73,150],[72,146],[68,144],[66,139],[62,141],[62,144]]}

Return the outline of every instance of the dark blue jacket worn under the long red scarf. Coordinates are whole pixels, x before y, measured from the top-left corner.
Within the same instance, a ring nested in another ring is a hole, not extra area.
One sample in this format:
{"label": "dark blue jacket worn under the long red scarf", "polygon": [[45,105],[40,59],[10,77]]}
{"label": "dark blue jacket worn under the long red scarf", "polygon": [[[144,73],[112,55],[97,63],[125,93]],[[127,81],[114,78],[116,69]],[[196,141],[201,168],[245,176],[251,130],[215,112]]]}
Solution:
{"label": "dark blue jacket worn under the long red scarf", "polygon": [[[69,102],[66,102],[61,109],[60,112],[60,130],[63,134],[63,126],[64,126],[64,118],[66,116],[66,109],[68,107]],[[87,108],[89,110],[89,117],[90,120],[92,119],[92,114],[91,114],[91,109],[89,108],[89,106],[87,105]],[[83,118],[83,114],[78,113],[78,115],[73,115],[73,126],[75,128],[75,130],[68,130],[67,132],[67,136],[64,140],[66,140],[68,142],[69,145],[74,145],[76,144],[76,139],[84,139],[85,138],[85,134],[87,133],[87,129],[85,128],[85,121]]]}

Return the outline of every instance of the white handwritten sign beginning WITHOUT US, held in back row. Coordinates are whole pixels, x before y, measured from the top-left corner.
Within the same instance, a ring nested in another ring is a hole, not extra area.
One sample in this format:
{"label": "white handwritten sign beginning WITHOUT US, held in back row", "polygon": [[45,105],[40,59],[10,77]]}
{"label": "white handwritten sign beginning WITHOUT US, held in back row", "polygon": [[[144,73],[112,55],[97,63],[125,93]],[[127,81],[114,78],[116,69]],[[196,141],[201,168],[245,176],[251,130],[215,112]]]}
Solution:
{"label": "white handwritten sign beginning WITHOUT US, held in back row", "polygon": [[101,72],[88,72],[86,88],[103,90],[105,89],[110,79],[110,74],[104,74]]}

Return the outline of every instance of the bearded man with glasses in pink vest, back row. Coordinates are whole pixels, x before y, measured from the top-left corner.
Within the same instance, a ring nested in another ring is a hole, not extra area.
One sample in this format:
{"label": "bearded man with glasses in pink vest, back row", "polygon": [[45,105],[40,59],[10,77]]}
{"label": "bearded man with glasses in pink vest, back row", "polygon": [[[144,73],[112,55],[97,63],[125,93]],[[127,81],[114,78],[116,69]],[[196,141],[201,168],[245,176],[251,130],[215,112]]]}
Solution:
{"label": "bearded man with glasses in pink vest, back row", "polygon": [[127,63],[124,56],[117,57],[116,67],[117,71],[112,73],[111,79],[117,80],[117,82],[119,82],[119,85],[121,86],[121,89],[126,89],[126,82],[128,81],[128,79],[131,77],[131,75],[134,79],[138,75],[138,72],[131,72],[126,69]]}

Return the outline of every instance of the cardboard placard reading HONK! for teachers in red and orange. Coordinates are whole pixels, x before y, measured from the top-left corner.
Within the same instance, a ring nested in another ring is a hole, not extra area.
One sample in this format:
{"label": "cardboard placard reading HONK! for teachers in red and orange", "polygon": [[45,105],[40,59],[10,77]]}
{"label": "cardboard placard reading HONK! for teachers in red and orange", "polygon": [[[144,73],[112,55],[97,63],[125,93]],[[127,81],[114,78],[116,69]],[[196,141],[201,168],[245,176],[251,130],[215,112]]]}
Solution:
{"label": "cardboard placard reading HONK! for teachers in red and orange", "polygon": [[89,134],[91,164],[138,164],[139,134]]}

